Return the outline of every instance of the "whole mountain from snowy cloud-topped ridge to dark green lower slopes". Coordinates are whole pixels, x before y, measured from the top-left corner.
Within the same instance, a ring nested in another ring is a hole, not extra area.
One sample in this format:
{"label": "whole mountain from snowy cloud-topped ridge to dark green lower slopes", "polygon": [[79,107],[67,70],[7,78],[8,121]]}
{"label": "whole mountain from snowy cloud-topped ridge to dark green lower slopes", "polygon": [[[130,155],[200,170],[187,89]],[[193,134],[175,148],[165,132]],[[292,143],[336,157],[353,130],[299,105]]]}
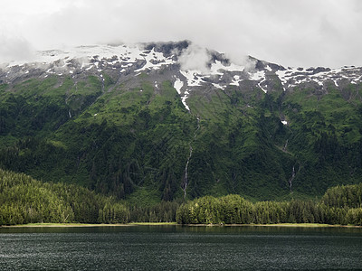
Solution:
{"label": "whole mountain from snowy cloud-topped ridge to dark green lower slopes", "polygon": [[362,68],[233,61],[192,42],[0,66],[0,166],[130,202],[322,195],[362,179]]}

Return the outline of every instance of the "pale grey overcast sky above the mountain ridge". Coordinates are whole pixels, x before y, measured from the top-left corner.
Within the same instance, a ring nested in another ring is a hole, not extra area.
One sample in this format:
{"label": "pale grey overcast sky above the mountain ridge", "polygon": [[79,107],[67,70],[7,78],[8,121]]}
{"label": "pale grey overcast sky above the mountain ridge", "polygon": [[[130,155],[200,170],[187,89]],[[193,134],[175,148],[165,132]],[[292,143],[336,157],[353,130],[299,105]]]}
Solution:
{"label": "pale grey overcast sky above the mountain ridge", "polygon": [[190,40],[233,59],[362,66],[361,0],[0,0],[0,61],[33,50]]}

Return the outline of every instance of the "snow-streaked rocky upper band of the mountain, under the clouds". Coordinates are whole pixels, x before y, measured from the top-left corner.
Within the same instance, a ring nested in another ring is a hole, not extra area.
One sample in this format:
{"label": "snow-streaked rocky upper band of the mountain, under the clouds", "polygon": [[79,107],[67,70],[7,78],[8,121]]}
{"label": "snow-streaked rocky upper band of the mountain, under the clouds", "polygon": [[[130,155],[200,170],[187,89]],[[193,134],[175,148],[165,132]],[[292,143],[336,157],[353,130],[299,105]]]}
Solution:
{"label": "snow-streaked rocky upper band of the mountain, under the clouds", "polygon": [[285,68],[259,61],[252,57],[236,64],[223,53],[209,51],[191,42],[138,43],[132,45],[95,45],[71,48],[66,51],[37,51],[33,61],[12,62],[0,68],[0,82],[14,83],[25,79],[45,79],[49,76],[84,78],[89,74],[104,80],[109,74],[119,83],[147,73],[157,81],[170,79],[180,98],[187,106],[187,98],[195,89],[228,87],[250,88],[263,92],[281,86],[284,91],[300,85],[325,89],[362,81],[362,67]]}

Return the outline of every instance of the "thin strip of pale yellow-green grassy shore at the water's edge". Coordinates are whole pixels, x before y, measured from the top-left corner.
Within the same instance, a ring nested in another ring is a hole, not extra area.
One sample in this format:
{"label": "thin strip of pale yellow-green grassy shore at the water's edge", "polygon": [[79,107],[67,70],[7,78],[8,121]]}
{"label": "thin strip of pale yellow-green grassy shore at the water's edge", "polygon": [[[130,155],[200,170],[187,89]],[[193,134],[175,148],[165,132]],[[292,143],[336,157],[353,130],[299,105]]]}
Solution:
{"label": "thin strip of pale yellow-green grassy shore at the water's edge", "polygon": [[181,226],[181,227],[284,227],[284,228],[362,228],[353,225],[329,225],[318,223],[279,224],[177,224],[176,222],[131,222],[127,224],[87,224],[87,223],[31,223],[3,225],[1,228],[90,228],[90,227],[134,227],[134,226]]}

